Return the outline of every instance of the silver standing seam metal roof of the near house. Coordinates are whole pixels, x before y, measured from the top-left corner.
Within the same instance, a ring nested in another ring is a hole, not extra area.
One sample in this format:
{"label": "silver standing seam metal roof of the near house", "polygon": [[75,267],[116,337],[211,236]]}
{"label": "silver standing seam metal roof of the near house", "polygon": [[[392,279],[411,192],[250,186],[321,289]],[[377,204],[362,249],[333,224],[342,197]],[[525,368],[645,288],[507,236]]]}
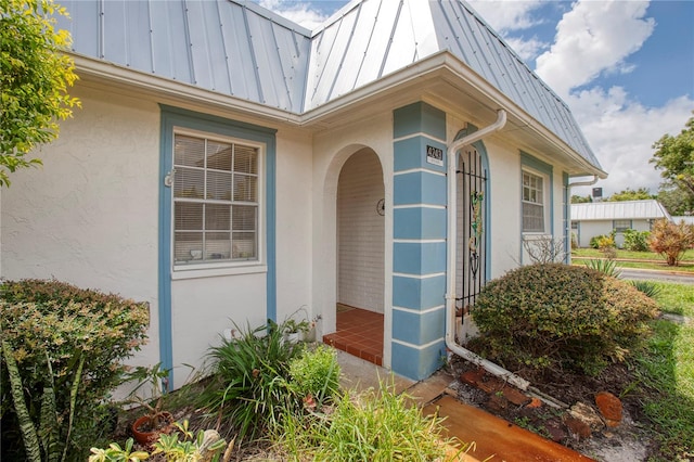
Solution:
{"label": "silver standing seam metal roof of the near house", "polygon": [[61,0],[75,53],[295,114],[449,51],[600,163],[568,106],[462,0],[352,0],[310,30],[243,0]]}

